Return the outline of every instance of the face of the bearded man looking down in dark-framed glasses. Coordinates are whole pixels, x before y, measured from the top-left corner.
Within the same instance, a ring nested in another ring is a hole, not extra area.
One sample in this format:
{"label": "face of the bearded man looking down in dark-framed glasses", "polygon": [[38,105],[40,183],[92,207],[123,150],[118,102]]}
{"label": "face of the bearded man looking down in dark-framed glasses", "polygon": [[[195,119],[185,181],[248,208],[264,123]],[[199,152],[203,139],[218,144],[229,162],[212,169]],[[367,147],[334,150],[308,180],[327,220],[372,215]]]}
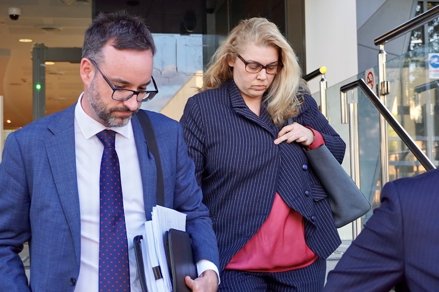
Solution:
{"label": "face of the bearded man looking down in dark-framed glasses", "polygon": [[[150,50],[116,50],[106,45],[102,56],[97,66],[114,88],[140,91],[151,83],[153,56]],[[81,61],[81,77],[85,84],[81,106],[103,125],[124,126],[139,110],[141,103],[136,95],[126,101],[112,99],[113,89],[89,59]],[[148,90],[150,88],[148,86]]]}

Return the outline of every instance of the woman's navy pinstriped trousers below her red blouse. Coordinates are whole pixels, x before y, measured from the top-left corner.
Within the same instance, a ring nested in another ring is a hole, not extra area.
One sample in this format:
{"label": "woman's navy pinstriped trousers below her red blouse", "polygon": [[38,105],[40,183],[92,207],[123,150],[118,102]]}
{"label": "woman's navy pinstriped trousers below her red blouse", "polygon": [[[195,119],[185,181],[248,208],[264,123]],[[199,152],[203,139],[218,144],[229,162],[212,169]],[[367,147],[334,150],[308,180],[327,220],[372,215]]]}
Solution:
{"label": "woman's navy pinstriped trousers below her red blouse", "polygon": [[326,261],[320,257],[308,267],[286,272],[223,270],[218,292],[320,292],[325,273]]}

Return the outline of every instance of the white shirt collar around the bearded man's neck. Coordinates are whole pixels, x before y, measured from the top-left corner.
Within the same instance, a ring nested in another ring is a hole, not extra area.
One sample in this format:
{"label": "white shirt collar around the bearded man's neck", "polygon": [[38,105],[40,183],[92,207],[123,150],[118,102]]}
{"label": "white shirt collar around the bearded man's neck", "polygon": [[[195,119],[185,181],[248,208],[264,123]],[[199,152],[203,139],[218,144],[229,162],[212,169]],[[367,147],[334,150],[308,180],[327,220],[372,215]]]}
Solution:
{"label": "white shirt collar around the bearded man's neck", "polygon": [[75,121],[78,124],[78,127],[83,134],[84,138],[86,140],[90,139],[91,137],[95,136],[99,132],[103,131],[104,129],[111,129],[115,131],[116,133],[119,133],[120,135],[124,136],[125,138],[130,138],[131,131],[131,120],[128,121],[128,123],[122,127],[106,127],[100,122],[96,121],[92,117],[90,117],[81,106],[81,99],[84,96],[84,92],[79,95],[78,102],[75,106]]}

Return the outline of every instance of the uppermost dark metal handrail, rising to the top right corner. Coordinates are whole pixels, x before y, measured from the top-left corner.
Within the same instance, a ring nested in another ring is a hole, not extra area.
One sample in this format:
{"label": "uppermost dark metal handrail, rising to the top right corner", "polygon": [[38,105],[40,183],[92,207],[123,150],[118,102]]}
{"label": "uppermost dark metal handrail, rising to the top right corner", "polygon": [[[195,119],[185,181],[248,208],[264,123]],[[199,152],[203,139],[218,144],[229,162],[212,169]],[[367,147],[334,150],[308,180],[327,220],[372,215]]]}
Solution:
{"label": "uppermost dark metal handrail, rising to the top right corner", "polygon": [[422,26],[427,22],[430,22],[431,20],[437,17],[439,17],[439,6],[435,6],[430,10],[427,10],[426,12],[418,15],[417,17],[410,19],[404,22],[403,24],[395,27],[394,29],[390,30],[388,33],[376,38],[374,44],[375,46],[383,45],[393,39],[398,38],[399,36],[402,36],[405,33],[408,33],[408,31],[410,30],[416,29],[419,26]]}

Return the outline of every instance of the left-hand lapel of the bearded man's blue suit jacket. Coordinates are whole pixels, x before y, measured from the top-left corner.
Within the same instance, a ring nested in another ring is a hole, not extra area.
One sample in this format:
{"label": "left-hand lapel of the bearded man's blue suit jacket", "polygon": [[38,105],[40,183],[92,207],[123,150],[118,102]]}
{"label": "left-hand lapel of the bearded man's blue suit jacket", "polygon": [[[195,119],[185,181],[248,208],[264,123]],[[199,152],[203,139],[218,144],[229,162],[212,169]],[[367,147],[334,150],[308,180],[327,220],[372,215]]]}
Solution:
{"label": "left-hand lapel of the bearded man's blue suit jacket", "polygon": [[49,165],[80,261],[80,208],[75,157],[75,105],[48,125],[52,136],[45,141]]}

